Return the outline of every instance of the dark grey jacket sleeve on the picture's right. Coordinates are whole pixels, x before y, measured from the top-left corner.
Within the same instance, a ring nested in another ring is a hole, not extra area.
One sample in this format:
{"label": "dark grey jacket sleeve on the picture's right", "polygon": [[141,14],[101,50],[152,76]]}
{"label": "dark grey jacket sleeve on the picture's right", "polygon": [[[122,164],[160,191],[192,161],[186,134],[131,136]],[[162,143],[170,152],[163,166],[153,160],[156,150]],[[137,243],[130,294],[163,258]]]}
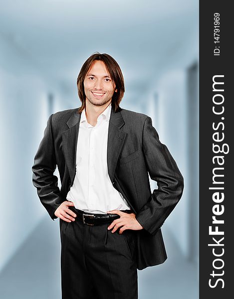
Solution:
{"label": "dark grey jacket sleeve on the picture's right", "polygon": [[142,143],[149,175],[157,181],[158,189],[138,211],[136,219],[145,230],[155,235],[180,200],[184,179],[171,153],[159,141],[150,117],[144,123]]}

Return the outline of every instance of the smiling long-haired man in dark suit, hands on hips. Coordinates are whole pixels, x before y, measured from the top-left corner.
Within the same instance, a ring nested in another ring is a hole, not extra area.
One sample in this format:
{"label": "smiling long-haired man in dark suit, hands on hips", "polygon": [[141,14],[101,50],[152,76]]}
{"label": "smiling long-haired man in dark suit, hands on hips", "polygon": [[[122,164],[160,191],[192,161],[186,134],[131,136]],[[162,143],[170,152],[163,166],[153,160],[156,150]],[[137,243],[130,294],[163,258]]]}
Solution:
{"label": "smiling long-haired man in dark suit, hands on hips", "polygon": [[77,88],[81,107],[49,117],[32,166],[41,203],[60,218],[62,298],[136,299],[137,269],[167,258],[160,227],[183,177],[150,117],[119,107],[124,79],[110,55],[91,55]]}

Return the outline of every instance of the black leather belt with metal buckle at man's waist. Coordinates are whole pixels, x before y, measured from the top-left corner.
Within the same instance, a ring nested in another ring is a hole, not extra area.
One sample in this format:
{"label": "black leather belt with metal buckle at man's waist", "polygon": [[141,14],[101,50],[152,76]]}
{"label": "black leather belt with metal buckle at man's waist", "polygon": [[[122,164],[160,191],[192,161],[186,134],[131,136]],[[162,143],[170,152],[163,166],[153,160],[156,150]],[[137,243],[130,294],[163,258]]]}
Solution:
{"label": "black leather belt with metal buckle at man's waist", "polygon": [[[95,214],[95,213],[87,213],[82,210],[76,209],[75,207],[69,206],[75,214],[75,219],[83,222],[88,225],[98,225],[103,223],[111,223],[115,219],[120,218],[118,214]],[[120,210],[125,213],[132,213],[132,210]]]}

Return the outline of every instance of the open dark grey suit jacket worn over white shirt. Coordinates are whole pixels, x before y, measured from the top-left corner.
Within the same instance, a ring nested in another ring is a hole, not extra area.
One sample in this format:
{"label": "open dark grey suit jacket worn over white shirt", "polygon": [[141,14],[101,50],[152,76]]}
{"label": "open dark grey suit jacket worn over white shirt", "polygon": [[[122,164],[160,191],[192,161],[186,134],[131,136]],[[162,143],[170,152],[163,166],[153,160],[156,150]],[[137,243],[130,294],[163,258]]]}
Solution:
{"label": "open dark grey suit jacket worn over white shirt", "polygon": [[[52,114],[32,166],[32,181],[41,203],[54,220],[57,207],[66,200],[76,171],[78,108]],[[167,259],[161,226],[180,200],[183,177],[165,145],[159,141],[147,115],[120,109],[111,111],[108,145],[108,174],[124,196],[136,219],[144,227],[137,232],[137,268]],[[53,175],[58,166],[61,188]],[[79,167],[79,165],[78,165]],[[158,189],[151,193],[149,176]]]}

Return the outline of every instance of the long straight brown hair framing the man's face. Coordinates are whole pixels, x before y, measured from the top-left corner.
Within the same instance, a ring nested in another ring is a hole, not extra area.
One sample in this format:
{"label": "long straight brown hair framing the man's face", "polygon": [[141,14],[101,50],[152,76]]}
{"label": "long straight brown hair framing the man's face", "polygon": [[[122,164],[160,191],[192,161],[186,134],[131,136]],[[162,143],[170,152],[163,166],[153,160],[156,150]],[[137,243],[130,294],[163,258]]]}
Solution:
{"label": "long straight brown hair framing the man's face", "polygon": [[117,89],[117,92],[114,92],[112,96],[111,105],[114,108],[114,111],[116,112],[119,110],[119,104],[125,92],[122,71],[113,57],[105,53],[100,54],[99,52],[95,52],[84,62],[80,69],[80,73],[77,77],[78,96],[81,101],[81,107],[79,108],[78,113],[81,113],[82,110],[85,109],[86,96],[84,92],[84,79],[95,60],[101,60],[104,62],[111,79],[115,83],[115,88]]}

